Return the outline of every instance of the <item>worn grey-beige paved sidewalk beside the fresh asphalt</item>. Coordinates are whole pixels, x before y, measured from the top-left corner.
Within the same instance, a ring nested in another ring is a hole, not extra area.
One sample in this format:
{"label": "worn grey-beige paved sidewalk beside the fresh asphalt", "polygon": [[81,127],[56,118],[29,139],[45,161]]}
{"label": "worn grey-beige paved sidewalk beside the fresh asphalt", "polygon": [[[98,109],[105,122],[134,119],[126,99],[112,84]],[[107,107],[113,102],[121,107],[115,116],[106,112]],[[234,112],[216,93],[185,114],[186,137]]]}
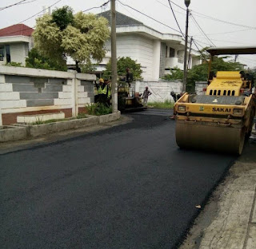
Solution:
{"label": "worn grey-beige paved sidewalk beside the fresh asphalt", "polygon": [[256,249],[256,134],[194,222],[180,249]]}

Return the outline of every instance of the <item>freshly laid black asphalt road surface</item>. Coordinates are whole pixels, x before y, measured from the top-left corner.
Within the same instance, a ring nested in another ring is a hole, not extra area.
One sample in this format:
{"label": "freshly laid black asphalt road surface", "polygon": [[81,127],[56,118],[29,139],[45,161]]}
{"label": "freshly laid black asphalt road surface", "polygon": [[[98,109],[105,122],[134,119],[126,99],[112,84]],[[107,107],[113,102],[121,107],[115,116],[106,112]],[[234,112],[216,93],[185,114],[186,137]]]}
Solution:
{"label": "freshly laid black asphalt road surface", "polygon": [[0,156],[1,248],[177,248],[235,157],[181,150],[169,111]]}

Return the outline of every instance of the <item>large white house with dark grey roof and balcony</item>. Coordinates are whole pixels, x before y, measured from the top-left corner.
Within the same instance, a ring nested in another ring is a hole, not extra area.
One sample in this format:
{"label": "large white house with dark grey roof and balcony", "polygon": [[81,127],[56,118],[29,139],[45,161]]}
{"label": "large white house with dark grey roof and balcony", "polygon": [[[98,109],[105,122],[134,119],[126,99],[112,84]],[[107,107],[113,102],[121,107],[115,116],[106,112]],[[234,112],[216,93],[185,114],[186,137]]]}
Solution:
{"label": "large white house with dark grey roof and balcony", "polygon": [[[98,15],[110,22],[110,10]],[[142,65],[142,77],[145,81],[158,81],[175,66],[183,69],[185,41],[181,35],[162,34],[119,12],[116,13],[116,23],[117,56],[137,60]],[[105,46],[108,52],[98,71],[104,69],[111,57],[110,41]],[[198,52],[192,50],[191,55],[190,68],[201,63],[197,57]]]}

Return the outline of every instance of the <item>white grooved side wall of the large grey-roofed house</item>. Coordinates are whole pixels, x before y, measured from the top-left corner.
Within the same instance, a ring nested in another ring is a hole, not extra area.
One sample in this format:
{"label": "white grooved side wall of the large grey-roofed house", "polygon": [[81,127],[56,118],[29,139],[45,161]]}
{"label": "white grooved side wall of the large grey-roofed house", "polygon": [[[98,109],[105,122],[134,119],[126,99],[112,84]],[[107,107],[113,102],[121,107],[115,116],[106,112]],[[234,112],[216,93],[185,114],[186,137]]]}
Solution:
{"label": "white grooved side wall of the large grey-roofed house", "polygon": [[[110,41],[106,42],[106,49],[111,50]],[[145,81],[158,80],[153,76],[154,66],[154,41],[139,35],[118,35],[117,56],[130,57],[142,65],[142,77]],[[159,53],[160,60],[160,53]],[[158,66],[159,77],[159,66]]]}

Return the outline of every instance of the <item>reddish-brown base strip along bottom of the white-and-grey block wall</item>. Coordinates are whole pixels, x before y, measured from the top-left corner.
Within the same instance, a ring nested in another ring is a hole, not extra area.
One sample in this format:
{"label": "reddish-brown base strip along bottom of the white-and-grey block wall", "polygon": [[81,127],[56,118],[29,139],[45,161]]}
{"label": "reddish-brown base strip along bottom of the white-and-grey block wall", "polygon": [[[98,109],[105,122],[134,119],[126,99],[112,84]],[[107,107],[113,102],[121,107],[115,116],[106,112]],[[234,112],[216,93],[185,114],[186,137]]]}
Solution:
{"label": "reddish-brown base strip along bottom of the white-and-grey block wall", "polygon": [[72,109],[55,109],[55,110],[43,110],[23,113],[5,113],[2,114],[2,125],[15,124],[17,122],[17,116],[19,115],[34,115],[42,113],[65,113],[65,117],[72,117]]}

